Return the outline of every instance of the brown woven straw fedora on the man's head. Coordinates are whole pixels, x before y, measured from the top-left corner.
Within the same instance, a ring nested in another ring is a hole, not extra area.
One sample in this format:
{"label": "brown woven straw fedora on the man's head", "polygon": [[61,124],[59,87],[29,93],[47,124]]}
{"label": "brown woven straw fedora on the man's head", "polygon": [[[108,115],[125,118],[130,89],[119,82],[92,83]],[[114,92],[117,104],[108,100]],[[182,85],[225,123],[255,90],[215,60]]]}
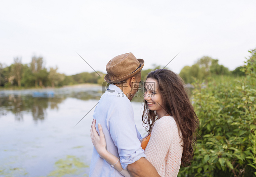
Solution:
{"label": "brown woven straw fedora on the man's head", "polygon": [[144,60],[137,59],[131,52],[114,57],[106,65],[104,80],[108,83],[124,81],[137,73],[144,66]]}

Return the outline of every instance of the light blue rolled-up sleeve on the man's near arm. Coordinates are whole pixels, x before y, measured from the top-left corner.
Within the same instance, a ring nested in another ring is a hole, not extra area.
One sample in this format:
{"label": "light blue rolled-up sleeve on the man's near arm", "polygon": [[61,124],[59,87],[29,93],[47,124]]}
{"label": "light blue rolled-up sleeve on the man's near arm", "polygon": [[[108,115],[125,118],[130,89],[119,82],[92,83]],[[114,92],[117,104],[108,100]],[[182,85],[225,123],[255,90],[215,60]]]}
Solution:
{"label": "light blue rolled-up sleeve on the man's near arm", "polygon": [[126,170],[127,165],[146,157],[137,136],[133,109],[127,97],[112,100],[107,117],[111,138],[118,149],[120,163]]}

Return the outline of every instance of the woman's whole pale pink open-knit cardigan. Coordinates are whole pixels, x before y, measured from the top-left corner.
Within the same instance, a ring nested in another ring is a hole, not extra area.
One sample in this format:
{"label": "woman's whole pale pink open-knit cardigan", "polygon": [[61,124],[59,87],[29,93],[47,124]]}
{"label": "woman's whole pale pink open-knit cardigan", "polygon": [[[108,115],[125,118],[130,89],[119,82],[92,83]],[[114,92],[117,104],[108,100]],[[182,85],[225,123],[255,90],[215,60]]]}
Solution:
{"label": "woman's whole pale pink open-knit cardigan", "polygon": [[183,150],[181,141],[173,117],[164,116],[156,121],[145,155],[160,175],[177,176]]}

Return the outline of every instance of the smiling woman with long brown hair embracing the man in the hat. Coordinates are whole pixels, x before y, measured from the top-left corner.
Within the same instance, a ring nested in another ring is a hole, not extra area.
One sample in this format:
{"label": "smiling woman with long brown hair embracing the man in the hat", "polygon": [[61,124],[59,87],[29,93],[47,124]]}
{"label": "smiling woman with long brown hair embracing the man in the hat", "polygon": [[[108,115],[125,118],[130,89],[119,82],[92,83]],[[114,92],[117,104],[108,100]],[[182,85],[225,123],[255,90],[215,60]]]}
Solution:
{"label": "smiling woman with long brown hair embracing the man in the hat", "polygon": [[[193,145],[199,119],[185,91],[184,81],[172,71],[157,69],[150,72],[144,89],[142,120],[148,134],[141,142],[146,159],[160,176],[177,176],[180,165],[190,165],[194,156]],[[102,128],[98,126],[100,136],[95,130],[94,120],[91,139],[96,150],[119,172],[122,171],[117,158],[105,149]]]}

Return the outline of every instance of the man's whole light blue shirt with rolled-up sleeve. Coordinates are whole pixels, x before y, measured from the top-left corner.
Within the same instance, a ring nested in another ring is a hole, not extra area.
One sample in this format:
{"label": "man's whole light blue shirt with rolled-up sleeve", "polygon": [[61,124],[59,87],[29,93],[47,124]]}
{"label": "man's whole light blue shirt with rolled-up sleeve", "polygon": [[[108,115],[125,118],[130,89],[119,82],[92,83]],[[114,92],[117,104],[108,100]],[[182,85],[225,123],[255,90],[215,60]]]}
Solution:
{"label": "man's whole light blue shirt with rolled-up sleeve", "polygon": [[[141,135],[134,122],[134,113],[130,100],[116,85],[109,85],[101,96],[93,118],[100,123],[106,139],[106,149],[116,157],[126,170],[127,165],[141,157],[146,157],[141,148]],[[93,149],[89,177],[123,177],[115,168],[102,159]]]}

